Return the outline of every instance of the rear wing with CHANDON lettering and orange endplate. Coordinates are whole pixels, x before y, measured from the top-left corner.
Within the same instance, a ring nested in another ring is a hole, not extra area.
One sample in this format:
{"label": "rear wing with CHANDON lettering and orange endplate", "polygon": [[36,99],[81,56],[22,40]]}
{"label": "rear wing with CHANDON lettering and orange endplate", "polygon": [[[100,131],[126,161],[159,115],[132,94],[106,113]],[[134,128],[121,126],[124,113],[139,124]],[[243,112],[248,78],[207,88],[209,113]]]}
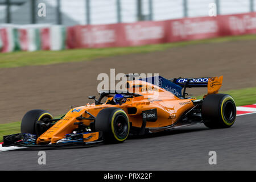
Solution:
{"label": "rear wing with CHANDON lettering and orange endplate", "polygon": [[216,94],[220,90],[222,85],[223,76],[220,77],[203,77],[203,78],[172,78],[170,81],[174,82],[176,85],[184,88],[183,97],[185,96],[185,88],[194,87],[207,87],[209,94]]}

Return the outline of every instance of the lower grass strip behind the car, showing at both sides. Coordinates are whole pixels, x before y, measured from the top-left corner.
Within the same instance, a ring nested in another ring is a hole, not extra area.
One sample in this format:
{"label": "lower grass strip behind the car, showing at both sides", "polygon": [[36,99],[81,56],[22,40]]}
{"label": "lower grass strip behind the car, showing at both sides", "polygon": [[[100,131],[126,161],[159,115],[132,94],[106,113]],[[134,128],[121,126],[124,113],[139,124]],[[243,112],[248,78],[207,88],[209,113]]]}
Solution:
{"label": "lower grass strip behind the car, showing at both sides", "polygon": [[[240,90],[229,90],[220,93],[230,94],[236,101],[237,106],[256,103],[256,87],[245,88]],[[203,96],[199,96],[197,98],[203,98]],[[2,142],[2,138],[4,135],[16,133],[20,133],[20,122],[0,124],[0,142]]]}

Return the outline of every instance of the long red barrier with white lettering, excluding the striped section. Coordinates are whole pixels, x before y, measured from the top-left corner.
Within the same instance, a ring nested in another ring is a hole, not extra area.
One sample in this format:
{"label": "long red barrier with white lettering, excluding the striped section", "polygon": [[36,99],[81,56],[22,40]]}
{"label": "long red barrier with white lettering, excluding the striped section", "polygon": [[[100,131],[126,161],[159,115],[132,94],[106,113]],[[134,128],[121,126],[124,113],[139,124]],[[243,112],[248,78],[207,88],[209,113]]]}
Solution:
{"label": "long red barrier with white lettering, excluding the striped section", "polygon": [[256,33],[256,13],[68,28],[68,47],[142,46]]}

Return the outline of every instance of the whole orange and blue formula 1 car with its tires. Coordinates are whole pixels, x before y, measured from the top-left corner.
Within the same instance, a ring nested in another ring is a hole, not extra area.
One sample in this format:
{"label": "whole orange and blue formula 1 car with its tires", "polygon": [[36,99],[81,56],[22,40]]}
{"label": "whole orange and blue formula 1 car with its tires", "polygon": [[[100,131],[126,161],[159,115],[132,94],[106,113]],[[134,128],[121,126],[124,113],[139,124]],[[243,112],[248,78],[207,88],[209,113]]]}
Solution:
{"label": "whole orange and blue formula 1 car with its tires", "polygon": [[[71,108],[58,119],[45,110],[28,111],[22,119],[22,133],[3,137],[3,146],[118,143],[129,135],[195,123],[211,129],[227,128],[235,122],[236,104],[228,94],[218,94],[221,85],[222,76],[129,80],[127,92],[102,91],[98,100],[89,97],[93,104]],[[186,88],[193,87],[207,87],[208,93],[202,100],[188,97]]]}

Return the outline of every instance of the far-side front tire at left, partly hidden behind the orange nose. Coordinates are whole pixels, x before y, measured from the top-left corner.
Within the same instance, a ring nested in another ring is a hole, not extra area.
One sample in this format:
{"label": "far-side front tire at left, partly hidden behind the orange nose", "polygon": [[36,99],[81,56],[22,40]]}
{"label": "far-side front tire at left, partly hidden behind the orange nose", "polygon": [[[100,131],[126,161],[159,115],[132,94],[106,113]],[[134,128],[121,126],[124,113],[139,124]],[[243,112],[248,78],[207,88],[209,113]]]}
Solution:
{"label": "far-side front tire at left, partly hidden behind the orange nose", "polygon": [[51,113],[49,113],[46,110],[40,110],[40,109],[30,110],[22,118],[20,131],[21,133],[30,133],[33,135],[39,135],[36,129],[36,122],[47,121],[49,119],[53,119],[53,117]]}

